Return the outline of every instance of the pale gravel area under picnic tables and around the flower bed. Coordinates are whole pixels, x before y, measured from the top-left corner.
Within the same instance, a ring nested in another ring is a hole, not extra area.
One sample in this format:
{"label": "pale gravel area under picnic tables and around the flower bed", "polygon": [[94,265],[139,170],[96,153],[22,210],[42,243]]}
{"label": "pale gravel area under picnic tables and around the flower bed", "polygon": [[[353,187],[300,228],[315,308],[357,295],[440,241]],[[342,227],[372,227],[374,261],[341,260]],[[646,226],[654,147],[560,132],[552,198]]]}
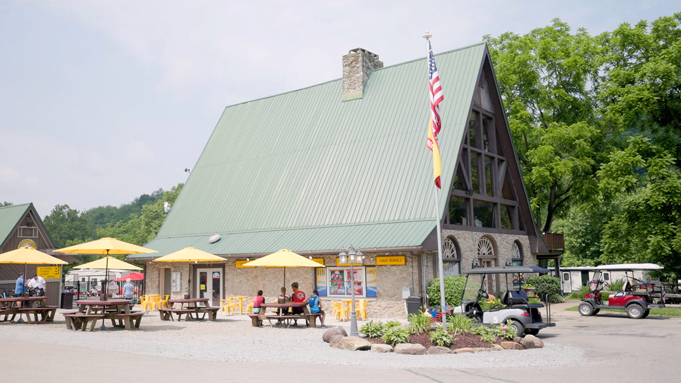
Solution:
{"label": "pale gravel area under picnic tables and around the flower bed", "polygon": [[[543,349],[475,354],[402,355],[348,352],[321,340],[324,328],[256,328],[247,316],[221,316],[215,322],[163,322],[157,313],[142,318],[137,331],[71,331],[57,313],[52,324],[0,323],[0,339],[72,345],[99,350],[194,359],[267,363],[318,363],[387,368],[550,367],[585,361],[579,348],[550,343]],[[98,322],[99,326],[101,322]],[[110,325],[110,322],[108,322]],[[361,326],[361,324],[360,324]],[[345,326],[349,332],[349,325]],[[541,333],[539,333],[541,338]]]}

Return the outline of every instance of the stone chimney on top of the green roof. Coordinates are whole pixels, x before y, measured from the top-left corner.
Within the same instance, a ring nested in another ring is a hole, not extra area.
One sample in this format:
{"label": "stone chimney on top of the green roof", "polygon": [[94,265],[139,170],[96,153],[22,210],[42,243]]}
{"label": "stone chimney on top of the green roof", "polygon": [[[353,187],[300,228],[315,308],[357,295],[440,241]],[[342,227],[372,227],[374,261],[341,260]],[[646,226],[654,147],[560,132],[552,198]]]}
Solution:
{"label": "stone chimney on top of the green roof", "polygon": [[382,68],[379,55],[355,48],[343,56],[343,101],[362,98],[371,70]]}

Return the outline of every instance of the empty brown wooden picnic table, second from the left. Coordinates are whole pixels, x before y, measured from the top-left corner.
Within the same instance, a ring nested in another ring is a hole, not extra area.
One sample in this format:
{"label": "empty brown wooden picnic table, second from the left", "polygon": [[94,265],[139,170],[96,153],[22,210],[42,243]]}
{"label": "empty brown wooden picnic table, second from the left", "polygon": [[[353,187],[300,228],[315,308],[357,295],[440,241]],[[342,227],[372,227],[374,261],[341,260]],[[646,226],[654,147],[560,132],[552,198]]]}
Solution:
{"label": "empty brown wooden picnic table, second from the left", "polygon": [[[82,329],[85,331],[88,322],[91,322],[90,331],[95,330],[95,323],[101,320],[100,329],[106,329],[104,322],[111,320],[114,327],[123,327],[126,330],[140,328],[140,321],[144,313],[130,310],[130,299],[112,298],[106,301],[99,299],[84,299],[76,301],[78,311],[64,313],[67,328],[72,330]],[[116,323],[116,321],[118,323]]]}

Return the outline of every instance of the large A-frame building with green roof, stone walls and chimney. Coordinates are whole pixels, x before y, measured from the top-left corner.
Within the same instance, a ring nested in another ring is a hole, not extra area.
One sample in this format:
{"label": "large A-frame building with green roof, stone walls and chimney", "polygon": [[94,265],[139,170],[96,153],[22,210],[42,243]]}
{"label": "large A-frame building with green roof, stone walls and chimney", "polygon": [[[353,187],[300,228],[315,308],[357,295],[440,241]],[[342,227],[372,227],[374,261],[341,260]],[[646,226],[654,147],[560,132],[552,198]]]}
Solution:
{"label": "large A-frame building with green roof, stone walls and chimney", "polygon": [[[438,194],[445,274],[535,264],[550,251],[533,223],[488,49],[476,44],[436,61],[445,94]],[[343,298],[350,275],[336,257],[353,245],[366,256],[355,292],[370,299],[370,316],[403,315],[403,288],[424,297],[437,277],[428,116],[425,59],[383,67],[360,48],[343,57],[343,78],[225,108],[146,245],[159,253],[130,256],[151,261],[191,246],[225,262],[145,262],[146,292],[191,291],[215,303],[262,289],[271,299],[283,271],[241,264],[290,249],[320,267],[288,270],[288,283]],[[215,234],[219,241],[209,241]]]}

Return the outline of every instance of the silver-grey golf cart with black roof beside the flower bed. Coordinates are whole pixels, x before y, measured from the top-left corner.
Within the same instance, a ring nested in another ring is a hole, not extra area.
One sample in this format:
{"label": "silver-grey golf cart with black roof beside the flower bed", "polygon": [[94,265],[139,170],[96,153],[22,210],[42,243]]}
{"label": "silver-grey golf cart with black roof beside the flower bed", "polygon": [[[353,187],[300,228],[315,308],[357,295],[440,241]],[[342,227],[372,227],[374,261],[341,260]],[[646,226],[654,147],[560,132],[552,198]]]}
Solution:
{"label": "silver-grey golf cart with black roof beside the flower bed", "polygon": [[[548,322],[543,322],[539,309],[544,307],[544,305],[541,303],[530,303],[530,298],[522,290],[522,279],[520,279],[520,284],[518,284],[518,290],[506,290],[509,286],[512,288],[512,284],[509,285],[508,275],[511,274],[512,279],[514,274],[548,272],[548,269],[537,266],[496,266],[464,270],[462,274],[466,275],[466,283],[464,284],[464,291],[461,296],[461,305],[454,307],[452,314],[464,314],[485,326],[505,323],[515,327],[519,337],[523,337],[525,334],[537,335],[541,328],[556,326],[555,323],[551,322],[550,302],[548,299],[545,300]],[[483,311],[480,303],[489,298],[486,292],[486,285],[492,282],[496,284],[496,276],[500,274],[505,274],[506,280],[505,286],[500,288],[500,292],[504,291],[500,295],[501,304],[494,305],[490,309]],[[477,286],[478,281],[471,281],[469,284],[471,275],[480,277],[479,286]],[[487,279],[488,277],[490,279]],[[466,288],[469,289],[466,290]]]}

